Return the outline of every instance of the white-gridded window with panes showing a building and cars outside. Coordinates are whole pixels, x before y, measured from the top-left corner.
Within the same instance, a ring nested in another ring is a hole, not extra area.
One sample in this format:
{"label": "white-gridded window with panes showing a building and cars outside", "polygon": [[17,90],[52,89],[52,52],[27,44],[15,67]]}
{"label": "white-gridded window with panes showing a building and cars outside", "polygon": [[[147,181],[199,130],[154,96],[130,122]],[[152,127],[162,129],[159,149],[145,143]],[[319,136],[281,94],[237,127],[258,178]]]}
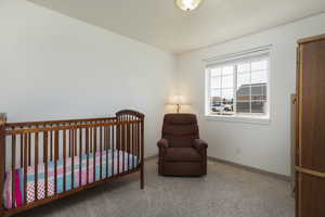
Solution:
{"label": "white-gridded window with panes showing a building and cars outside", "polygon": [[213,116],[269,116],[269,51],[207,66],[206,113]]}

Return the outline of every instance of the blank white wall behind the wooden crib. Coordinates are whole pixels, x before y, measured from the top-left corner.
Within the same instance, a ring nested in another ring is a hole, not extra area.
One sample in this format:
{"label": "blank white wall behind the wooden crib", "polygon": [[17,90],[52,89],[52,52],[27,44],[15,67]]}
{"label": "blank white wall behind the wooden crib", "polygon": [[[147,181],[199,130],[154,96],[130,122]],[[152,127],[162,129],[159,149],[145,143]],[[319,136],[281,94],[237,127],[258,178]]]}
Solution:
{"label": "blank white wall behind the wooden crib", "polygon": [[176,58],[22,0],[0,0],[0,113],[10,122],[145,113],[157,153]]}

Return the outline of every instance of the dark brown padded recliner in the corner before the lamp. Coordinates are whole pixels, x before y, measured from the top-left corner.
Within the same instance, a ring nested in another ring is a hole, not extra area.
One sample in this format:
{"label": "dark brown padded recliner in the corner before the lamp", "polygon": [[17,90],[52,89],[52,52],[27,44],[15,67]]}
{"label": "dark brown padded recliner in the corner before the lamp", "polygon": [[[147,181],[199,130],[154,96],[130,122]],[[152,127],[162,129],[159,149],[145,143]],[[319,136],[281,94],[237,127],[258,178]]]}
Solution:
{"label": "dark brown padded recliner in the corner before the lamp", "polygon": [[157,143],[159,175],[207,175],[208,144],[199,139],[194,114],[166,114],[161,138]]}

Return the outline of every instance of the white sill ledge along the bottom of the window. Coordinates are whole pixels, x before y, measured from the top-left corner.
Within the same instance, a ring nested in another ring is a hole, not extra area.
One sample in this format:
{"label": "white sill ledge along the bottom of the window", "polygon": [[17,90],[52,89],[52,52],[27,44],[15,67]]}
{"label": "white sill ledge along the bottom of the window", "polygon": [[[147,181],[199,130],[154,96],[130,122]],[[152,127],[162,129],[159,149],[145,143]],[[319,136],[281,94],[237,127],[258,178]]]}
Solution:
{"label": "white sill ledge along the bottom of the window", "polygon": [[244,123],[244,124],[257,124],[257,125],[269,125],[271,119],[269,116],[257,117],[257,116],[223,116],[223,115],[206,115],[206,120],[209,122],[230,122],[230,123]]}

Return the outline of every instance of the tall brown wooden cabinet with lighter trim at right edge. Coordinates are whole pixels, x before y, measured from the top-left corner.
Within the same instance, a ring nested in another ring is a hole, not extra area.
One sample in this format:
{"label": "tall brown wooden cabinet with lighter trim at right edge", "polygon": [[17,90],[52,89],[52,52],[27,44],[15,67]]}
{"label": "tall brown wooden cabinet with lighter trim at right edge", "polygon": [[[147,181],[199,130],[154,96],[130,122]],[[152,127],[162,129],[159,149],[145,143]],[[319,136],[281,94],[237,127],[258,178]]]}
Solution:
{"label": "tall brown wooden cabinet with lighter trim at right edge", "polygon": [[325,217],[325,36],[299,41],[297,217]]}

